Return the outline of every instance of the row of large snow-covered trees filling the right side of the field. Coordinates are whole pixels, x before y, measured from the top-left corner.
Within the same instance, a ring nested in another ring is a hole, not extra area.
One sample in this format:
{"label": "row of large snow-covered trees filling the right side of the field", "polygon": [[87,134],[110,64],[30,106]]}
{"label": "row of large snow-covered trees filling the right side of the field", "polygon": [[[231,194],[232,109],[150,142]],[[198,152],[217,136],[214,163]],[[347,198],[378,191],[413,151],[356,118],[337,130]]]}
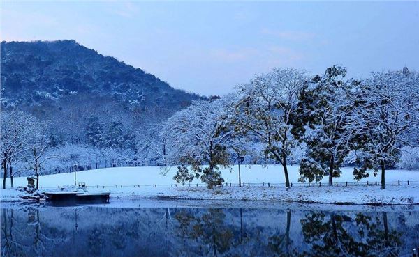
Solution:
{"label": "row of large snow-covered trees filling the right side of the field", "polygon": [[166,165],[181,164],[178,182],[200,178],[213,187],[222,185],[219,166],[231,164],[232,153],[263,153],[265,162],[281,164],[288,189],[287,165],[299,148],[302,182],[327,175],[332,185],[351,157],[355,179],[381,170],[384,189],[385,169],[402,149],[419,146],[419,75],[404,68],[345,77],[338,65],[315,77],[277,68],[223,98],[194,102],[164,124]]}

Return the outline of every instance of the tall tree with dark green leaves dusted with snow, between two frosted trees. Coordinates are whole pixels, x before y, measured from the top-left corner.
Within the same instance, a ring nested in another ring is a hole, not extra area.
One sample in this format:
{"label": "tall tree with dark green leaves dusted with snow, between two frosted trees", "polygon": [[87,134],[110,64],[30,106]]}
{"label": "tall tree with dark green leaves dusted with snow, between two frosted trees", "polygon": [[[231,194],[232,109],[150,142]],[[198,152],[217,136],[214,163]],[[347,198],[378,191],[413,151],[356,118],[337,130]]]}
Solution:
{"label": "tall tree with dark green leaves dusted with snow, between two frosted trees", "polygon": [[349,134],[346,130],[352,107],[351,86],[344,81],[346,69],[334,65],[323,76],[316,76],[299,95],[299,118],[293,127],[296,137],[307,145],[307,156],[300,162],[300,181],[319,181],[340,176],[340,164],[348,154]]}

